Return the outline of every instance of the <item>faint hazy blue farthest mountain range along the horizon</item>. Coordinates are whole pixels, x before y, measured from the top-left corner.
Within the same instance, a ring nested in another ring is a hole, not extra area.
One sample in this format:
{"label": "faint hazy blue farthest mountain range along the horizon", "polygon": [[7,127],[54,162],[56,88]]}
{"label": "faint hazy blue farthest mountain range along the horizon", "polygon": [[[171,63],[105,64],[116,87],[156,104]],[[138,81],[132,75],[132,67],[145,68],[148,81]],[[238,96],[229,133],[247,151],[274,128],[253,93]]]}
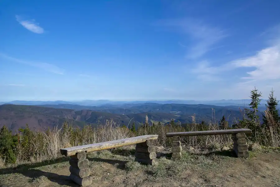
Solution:
{"label": "faint hazy blue farthest mountain range along the horizon", "polygon": [[[83,100],[83,101],[11,101],[0,102],[1,104],[19,104],[19,105],[45,105],[45,104],[73,104],[82,106],[101,106],[106,104],[122,105],[122,104],[144,104],[144,103],[158,103],[158,104],[207,104],[215,106],[248,106],[250,99],[237,99],[237,100],[213,100],[213,101],[195,101],[195,100],[152,100],[152,101],[110,101],[110,100]],[[262,99],[260,106],[265,106],[266,100]]]}

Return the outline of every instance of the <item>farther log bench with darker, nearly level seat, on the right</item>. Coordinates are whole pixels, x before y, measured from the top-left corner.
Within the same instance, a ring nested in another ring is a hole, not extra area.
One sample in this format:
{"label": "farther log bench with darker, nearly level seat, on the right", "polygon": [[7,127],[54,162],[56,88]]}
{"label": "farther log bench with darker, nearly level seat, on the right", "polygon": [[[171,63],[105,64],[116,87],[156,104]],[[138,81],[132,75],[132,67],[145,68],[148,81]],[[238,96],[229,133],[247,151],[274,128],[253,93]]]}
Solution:
{"label": "farther log bench with darker, nearly level seat, on the right", "polygon": [[215,130],[215,131],[193,131],[193,132],[169,132],[167,137],[172,137],[172,158],[181,158],[182,146],[180,137],[185,136],[203,136],[203,135],[233,135],[233,150],[237,157],[249,157],[248,146],[246,142],[246,135],[251,134],[250,129],[227,129],[227,130]]}

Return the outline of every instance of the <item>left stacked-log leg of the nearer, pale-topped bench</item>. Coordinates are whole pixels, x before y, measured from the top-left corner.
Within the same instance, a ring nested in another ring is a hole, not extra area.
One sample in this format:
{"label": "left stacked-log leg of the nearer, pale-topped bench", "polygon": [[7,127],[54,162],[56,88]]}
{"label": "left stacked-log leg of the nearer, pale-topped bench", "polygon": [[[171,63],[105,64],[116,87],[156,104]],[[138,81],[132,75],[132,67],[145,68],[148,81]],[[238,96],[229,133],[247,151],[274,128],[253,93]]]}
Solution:
{"label": "left stacked-log leg of the nearer, pale-topped bench", "polygon": [[89,161],[86,159],[86,152],[78,152],[71,156],[70,163],[70,179],[80,186],[91,185],[92,179],[89,176],[91,170],[89,168]]}

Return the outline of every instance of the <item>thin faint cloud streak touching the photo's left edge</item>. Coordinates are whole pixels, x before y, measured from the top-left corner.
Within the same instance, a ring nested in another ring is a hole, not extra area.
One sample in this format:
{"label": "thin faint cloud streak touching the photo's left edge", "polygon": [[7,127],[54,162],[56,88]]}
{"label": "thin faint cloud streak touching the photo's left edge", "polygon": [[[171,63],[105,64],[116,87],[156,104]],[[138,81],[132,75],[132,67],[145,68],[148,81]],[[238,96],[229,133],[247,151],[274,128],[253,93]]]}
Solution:
{"label": "thin faint cloud streak touching the photo's left edge", "polygon": [[45,63],[45,62],[31,62],[31,61],[16,59],[16,58],[10,57],[10,56],[2,54],[2,53],[0,53],[0,57],[4,58],[6,60],[11,60],[11,61],[17,62],[17,63],[37,67],[37,68],[43,69],[43,70],[51,72],[51,73],[61,74],[61,75],[64,74],[64,70],[60,69],[59,67],[57,67],[56,65],[53,65],[53,64],[49,64],[49,63]]}

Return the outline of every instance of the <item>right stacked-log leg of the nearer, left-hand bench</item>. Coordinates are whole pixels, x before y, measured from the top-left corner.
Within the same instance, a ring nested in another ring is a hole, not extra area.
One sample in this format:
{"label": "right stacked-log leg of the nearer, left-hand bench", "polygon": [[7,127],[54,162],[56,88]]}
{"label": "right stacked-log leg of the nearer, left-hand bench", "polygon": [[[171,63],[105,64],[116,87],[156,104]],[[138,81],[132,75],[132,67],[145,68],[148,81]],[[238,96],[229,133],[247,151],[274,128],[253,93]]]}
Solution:
{"label": "right stacked-log leg of the nearer, left-hand bench", "polygon": [[135,161],[147,165],[157,165],[156,150],[154,140],[147,140],[143,143],[136,144]]}

